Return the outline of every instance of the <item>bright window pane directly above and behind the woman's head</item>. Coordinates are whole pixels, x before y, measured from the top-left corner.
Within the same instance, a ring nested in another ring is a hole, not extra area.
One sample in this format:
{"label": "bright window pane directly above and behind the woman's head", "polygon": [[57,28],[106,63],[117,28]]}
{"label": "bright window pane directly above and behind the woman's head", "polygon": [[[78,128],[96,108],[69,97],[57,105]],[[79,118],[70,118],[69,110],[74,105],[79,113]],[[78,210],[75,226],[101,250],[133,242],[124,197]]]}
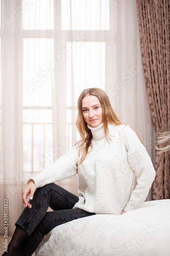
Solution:
{"label": "bright window pane directly above and behind the woman's head", "polygon": [[67,106],[77,106],[79,95],[86,88],[105,90],[105,47],[105,42],[67,42]]}

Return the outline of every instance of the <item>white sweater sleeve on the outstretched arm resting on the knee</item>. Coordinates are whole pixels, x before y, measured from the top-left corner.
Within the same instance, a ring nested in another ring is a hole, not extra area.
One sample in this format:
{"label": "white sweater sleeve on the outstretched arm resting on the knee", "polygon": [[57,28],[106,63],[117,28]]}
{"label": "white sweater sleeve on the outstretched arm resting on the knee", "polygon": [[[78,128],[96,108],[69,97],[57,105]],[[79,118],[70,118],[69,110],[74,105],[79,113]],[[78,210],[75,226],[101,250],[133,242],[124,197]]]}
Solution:
{"label": "white sweater sleeve on the outstretched arm resting on the knee", "polygon": [[78,158],[77,146],[74,146],[53,164],[48,165],[42,172],[30,178],[27,184],[33,180],[36,188],[38,188],[76,175]]}

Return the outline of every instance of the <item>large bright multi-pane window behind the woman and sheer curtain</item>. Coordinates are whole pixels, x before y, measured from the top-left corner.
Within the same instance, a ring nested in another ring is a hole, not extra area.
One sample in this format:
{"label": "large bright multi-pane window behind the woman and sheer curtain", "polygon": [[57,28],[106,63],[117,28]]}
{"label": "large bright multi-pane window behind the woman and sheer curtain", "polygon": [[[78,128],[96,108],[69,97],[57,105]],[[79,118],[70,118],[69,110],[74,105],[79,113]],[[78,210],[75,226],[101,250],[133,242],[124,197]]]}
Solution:
{"label": "large bright multi-pane window behind the woman and sheer curtain", "polygon": [[[23,13],[22,144],[28,175],[80,139],[78,97],[89,87],[105,90],[106,41],[96,31],[109,26],[109,1],[104,0],[35,1]],[[79,30],[91,31],[97,40]]]}

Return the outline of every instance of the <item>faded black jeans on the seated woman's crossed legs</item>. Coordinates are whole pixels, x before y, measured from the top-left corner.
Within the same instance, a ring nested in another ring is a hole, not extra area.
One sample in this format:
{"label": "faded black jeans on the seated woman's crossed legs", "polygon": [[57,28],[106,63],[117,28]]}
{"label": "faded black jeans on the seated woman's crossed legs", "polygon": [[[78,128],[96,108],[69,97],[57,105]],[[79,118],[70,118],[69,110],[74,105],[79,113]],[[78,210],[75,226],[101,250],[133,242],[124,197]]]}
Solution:
{"label": "faded black jeans on the seated woman's crossed legs", "polygon": [[[25,207],[15,225],[22,227],[29,238],[23,244],[21,255],[31,256],[45,234],[63,223],[94,215],[81,209],[72,209],[79,198],[64,188],[51,183],[37,188],[29,202],[32,208]],[[48,211],[50,206],[53,211]]]}

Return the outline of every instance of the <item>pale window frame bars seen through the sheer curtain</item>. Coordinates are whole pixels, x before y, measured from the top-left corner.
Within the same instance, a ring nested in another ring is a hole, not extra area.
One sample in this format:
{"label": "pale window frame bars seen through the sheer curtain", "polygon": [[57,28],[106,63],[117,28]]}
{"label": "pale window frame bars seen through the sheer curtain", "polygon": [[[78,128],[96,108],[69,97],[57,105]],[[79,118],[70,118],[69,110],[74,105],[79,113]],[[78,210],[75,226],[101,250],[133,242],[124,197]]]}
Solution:
{"label": "pale window frame bars seen through the sheer curtain", "polygon": [[[21,5],[20,0],[16,0],[17,6]],[[2,8],[3,9],[3,8]],[[3,17],[2,17],[3,18]],[[3,37],[3,49],[5,49],[5,53],[7,52],[7,44],[8,40],[7,33],[5,33],[3,28],[4,20],[2,19],[2,28],[0,28],[0,36]],[[22,147],[22,111],[25,109],[35,109],[35,106],[23,106],[22,105],[22,83],[23,83],[23,38],[53,38],[54,39],[54,60],[57,61],[59,67],[54,72],[54,88],[53,88],[53,105],[52,107],[42,106],[38,107],[44,109],[51,109],[53,112],[53,147],[55,148],[56,143],[60,143],[61,145],[57,147],[57,154],[54,156],[54,161],[61,157],[66,149],[66,125],[61,120],[65,120],[66,124],[66,110],[77,111],[75,106],[66,106],[66,95],[64,91],[66,90],[66,60],[61,61],[59,59],[59,53],[62,50],[62,53],[66,56],[66,42],[67,41],[88,41],[88,42],[106,42],[106,66],[105,70],[108,67],[114,66],[114,61],[109,61],[109,56],[113,54],[108,50],[108,46],[110,44],[114,44],[114,26],[113,26],[113,16],[111,15],[110,9],[110,30],[61,30],[61,1],[54,1],[54,29],[53,30],[24,30],[22,28],[22,14],[15,20],[14,26],[16,31],[16,52],[20,51],[20,55],[16,61],[18,74],[16,74],[17,78],[17,122],[18,122],[18,130],[17,130],[17,154],[18,156],[22,156],[21,160],[17,162],[18,175],[21,177],[21,180],[24,179],[24,176],[32,175],[34,176],[37,172],[23,172],[23,151]],[[9,28],[10,30],[10,28]],[[60,37],[60,40],[58,39]],[[11,42],[13,44],[14,41]],[[112,50],[114,51],[114,49]],[[4,53],[4,54],[5,54]],[[4,58],[4,56],[3,56]],[[114,67],[112,68],[114,70]],[[109,72],[109,76],[113,76],[113,72]],[[107,90],[108,87],[111,87],[111,84],[108,81],[111,81],[109,77],[105,76],[105,88]],[[61,87],[62,82],[62,87]],[[64,90],[63,90],[64,89]],[[72,123],[75,125],[75,123]],[[55,131],[55,132],[54,132]],[[60,138],[60,139],[59,139]],[[63,143],[62,143],[63,142]],[[64,143],[65,142],[65,143]],[[72,141],[72,145],[74,145],[76,141]],[[71,145],[69,145],[70,147]],[[33,164],[32,164],[33,166]]]}

